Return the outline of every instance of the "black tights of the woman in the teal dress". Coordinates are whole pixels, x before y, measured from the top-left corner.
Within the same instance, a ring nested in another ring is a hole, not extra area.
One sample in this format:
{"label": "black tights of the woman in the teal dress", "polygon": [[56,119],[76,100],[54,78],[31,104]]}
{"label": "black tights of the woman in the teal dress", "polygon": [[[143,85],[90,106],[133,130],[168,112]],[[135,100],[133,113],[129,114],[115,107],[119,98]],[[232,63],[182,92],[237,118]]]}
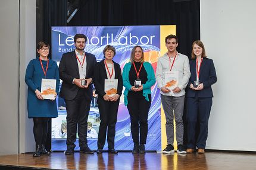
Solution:
{"label": "black tights of the woman in the teal dress", "polygon": [[45,145],[47,130],[48,130],[48,117],[34,117],[34,137],[36,145]]}

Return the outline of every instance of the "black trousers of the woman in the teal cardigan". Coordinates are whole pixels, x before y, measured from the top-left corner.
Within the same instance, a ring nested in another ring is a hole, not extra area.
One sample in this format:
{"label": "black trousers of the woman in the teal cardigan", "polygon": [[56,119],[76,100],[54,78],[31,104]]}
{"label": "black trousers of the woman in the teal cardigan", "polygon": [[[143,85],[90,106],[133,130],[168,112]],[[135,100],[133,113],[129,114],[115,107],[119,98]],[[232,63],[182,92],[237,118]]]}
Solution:
{"label": "black trousers of the woman in the teal cardigan", "polygon": [[146,144],[148,136],[148,112],[151,106],[151,95],[148,95],[149,101],[146,101],[143,95],[138,97],[127,96],[127,108],[130,114],[130,130],[134,143]]}

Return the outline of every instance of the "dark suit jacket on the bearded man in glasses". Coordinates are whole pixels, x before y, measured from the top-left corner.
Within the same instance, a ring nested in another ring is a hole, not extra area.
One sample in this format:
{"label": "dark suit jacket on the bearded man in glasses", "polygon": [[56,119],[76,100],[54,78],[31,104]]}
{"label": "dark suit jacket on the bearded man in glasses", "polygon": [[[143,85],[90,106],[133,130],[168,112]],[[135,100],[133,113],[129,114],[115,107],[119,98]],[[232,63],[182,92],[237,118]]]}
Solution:
{"label": "dark suit jacket on the bearded man in glasses", "polygon": [[[93,79],[93,69],[96,64],[96,58],[93,54],[85,53],[86,55],[86,77]],[[60,65],[59,65],[60,79],[63,80],[63,84],[61,85],[60,97],[65,100],[73,100],[79,87],[73,84],[73,79],[79,79],[79,68],[77,65],[76,53],[68,52],[64,53],[61,57]],[[88,100],[92,98],[92,84],[89,85],[88,88],[84,89],[85,96]]]}

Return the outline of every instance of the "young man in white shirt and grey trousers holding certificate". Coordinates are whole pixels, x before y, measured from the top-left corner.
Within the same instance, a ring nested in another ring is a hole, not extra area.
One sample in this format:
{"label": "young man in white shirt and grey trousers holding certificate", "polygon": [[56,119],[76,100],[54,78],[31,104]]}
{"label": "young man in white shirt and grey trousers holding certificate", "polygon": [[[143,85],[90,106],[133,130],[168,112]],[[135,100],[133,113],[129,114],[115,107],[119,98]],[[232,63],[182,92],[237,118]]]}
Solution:
{"label": "young man in white shirt and grey trousers holding certificate", "polygon": [[167,147],[163,153],[174,152],[174,127],[176,122],[177,153],[186,153],[183,147],[183,108],[185,100],[185,87],[190,78],[188,56],[177,52],[177,36],[166,37],[168,52],[158,59],[157,84],[161,89],[161,101],[166,115]]}

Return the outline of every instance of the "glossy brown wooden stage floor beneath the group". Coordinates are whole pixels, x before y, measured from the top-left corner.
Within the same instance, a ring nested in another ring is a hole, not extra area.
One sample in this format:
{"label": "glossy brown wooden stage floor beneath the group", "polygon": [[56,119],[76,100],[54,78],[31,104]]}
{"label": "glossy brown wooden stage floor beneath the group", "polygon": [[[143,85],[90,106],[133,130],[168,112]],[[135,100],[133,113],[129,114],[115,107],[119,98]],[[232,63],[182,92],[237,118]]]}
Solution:
{"label": "glossy brown wooden stage floor beneath the group", "polygon": [[40,169],[248,170],[256,169],[256,153],[206,152],[205,154],[179,155],[177,153],[148,152],[145,155],[139,155],[130,152],[119,152],[118,155],[113,155],[104,152],[102,155],[96,155],[96,153],[86,155],[75,152],[74,155],[66,156],[63,152],[53,152],[50,156],[40,156],[38,158],[33,158],[32,154],[0,156],[0,169],[4,169],[2,165]]}

